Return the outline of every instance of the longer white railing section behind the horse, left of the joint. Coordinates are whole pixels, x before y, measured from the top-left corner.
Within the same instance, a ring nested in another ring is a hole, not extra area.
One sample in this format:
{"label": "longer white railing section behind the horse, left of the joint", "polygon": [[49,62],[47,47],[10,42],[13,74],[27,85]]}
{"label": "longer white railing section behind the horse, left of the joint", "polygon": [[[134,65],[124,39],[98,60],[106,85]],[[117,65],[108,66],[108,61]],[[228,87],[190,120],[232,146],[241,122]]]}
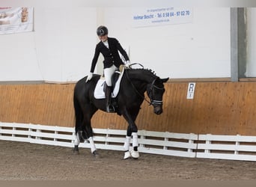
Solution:
{"label": "longer white railing section behind the horse, left of the joint", "polygon": [[[126,133],[126,130],[94,129],[95,146],[103,150],[124,150]],[[194,134],[142,130],[138,131],[138,150],[141,153],[195,157],[197,145],[194,141],[197,139],[198,135]],[[0,123],[0,140],[73,147],[75,130],[61,126]],[[85,141],[79,147],[89,148],[90,144]]]}

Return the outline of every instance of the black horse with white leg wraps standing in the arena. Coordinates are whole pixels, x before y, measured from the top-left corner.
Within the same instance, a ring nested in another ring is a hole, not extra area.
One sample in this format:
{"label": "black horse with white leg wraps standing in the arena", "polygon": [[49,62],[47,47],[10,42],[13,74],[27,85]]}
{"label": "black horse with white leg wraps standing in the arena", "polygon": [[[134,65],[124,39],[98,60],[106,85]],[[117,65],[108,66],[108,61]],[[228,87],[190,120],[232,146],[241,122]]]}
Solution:
{"label": "black horse with white leg wraps standing in the arena", "polygon": [[[106,111],[106,99],[95,99],[94,88],[100,75],[94,74],[89,82],[85,82],[86,77],[79,80],[74,88],[73,104],[76,115],[76,140],[74,152],[79,151],[79,142],[86,139],[91,144],[91,153],[97,156],[97,149],[93,140],[93,129],[91,127],[91,117],[100,109]],[[164,84],[167,79],[160,79],[152,70],[125,69],[121,79],[120,90],[115,102],[118,105],[116,113],[122,115],[127,120],[127,138],[124,142],[124,159],[129,157],[138,158],[138,128],[135,124],[140,106],[144,101],[144,92],[153,105],[155,114],[162,113],[162,95],[165,92]],[[148,101],[147,101],[148,102]],[[133,149],[129,151],[129,144],[132,137]]]}

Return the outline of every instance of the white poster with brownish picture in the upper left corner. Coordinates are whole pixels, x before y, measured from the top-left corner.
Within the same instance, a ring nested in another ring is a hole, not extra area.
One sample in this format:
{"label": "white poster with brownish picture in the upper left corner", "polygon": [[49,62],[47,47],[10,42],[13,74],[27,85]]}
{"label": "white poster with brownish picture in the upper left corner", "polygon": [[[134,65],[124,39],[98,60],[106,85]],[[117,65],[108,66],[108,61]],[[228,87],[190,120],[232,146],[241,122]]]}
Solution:
{"label": "white poster with brownish picture in the upper left corner", "polygon": [[33,7],[0,7],[0,34],[33,31]]}

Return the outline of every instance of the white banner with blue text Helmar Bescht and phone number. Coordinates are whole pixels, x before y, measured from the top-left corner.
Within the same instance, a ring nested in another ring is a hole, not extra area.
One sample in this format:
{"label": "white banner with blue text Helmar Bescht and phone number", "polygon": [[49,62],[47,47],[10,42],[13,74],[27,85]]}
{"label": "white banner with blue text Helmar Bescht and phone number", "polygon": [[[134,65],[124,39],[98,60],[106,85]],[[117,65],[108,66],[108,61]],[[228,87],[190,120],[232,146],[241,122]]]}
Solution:
{"label": "white banner with blue text Helmar Bescht and phone number", "polygon": [[190,23],[192,14],[192,8],[186,7],[135,8],[132,11],[132,25],[149,27]]}

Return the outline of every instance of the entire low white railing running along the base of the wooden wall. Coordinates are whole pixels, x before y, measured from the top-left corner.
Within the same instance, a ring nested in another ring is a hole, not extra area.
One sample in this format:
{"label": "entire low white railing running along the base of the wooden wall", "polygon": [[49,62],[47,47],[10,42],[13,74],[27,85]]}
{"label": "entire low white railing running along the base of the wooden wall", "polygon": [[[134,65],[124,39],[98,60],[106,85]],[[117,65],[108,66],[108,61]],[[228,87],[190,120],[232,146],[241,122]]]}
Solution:
{"label": "entire low white railing running along the base of the wooden wall", "polygon": [[[124,150],[126,130],[94,129],[97,149]],[[73,147],[74,128],[23,123],[1,123],[0,140]],[[131,140],[132,142],[132,140]],[[256,137],[242,135],[195,135],[138,131],[138,150],[168,156],[256,161]],[[89,148],[88,141],[79,147]]]}

